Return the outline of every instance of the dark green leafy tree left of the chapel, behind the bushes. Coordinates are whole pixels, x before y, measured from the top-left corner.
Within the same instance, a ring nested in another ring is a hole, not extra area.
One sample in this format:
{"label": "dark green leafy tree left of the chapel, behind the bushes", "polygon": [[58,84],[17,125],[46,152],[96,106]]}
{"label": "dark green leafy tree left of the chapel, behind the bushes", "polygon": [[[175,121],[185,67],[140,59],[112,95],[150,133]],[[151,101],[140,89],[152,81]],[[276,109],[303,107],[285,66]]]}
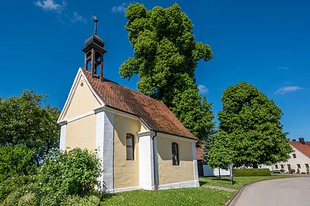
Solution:
{"label": "dark green leafy tree left of the chapel, behind the bushes", "polygon": [[25,90],[20,97],[0,98],[0,146],[21,144],[34,149],[37,165],[59,146],[59,109],[46,103],[47,96]]}

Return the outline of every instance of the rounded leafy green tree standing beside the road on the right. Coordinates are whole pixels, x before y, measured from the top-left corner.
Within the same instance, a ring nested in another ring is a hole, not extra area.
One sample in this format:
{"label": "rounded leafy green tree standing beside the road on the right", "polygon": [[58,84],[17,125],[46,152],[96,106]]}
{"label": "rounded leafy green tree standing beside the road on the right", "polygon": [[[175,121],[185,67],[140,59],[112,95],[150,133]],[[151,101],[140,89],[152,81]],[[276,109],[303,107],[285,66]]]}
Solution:
{"label": "rounded leafy green tree standing beside the road on the right", "polygon": [[292,152],[282,130],[282,111],[252,84],[227,87],[218,113],[219,135],[227,138],[234,165],[272,164],[289,159]]}

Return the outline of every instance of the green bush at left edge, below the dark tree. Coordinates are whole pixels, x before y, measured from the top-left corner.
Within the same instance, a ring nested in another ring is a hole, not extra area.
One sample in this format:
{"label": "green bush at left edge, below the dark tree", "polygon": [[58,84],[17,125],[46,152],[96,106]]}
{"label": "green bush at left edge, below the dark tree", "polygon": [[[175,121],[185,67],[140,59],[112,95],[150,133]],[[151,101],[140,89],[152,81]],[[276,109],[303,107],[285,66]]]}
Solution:
{"label": "green bush at left edge, below the dark tree", "polygon": [[34,150],[22,145],[0,147],[0,183],[11,176],[34,174]]}

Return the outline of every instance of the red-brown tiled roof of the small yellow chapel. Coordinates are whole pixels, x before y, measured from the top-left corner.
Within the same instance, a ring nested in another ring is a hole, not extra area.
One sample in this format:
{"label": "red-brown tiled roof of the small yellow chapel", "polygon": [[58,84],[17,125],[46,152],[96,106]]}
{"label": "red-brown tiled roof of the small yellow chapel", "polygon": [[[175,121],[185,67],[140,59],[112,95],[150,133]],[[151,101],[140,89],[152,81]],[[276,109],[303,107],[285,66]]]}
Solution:
{"label": "red-brown tiled roof of the small yellow chapel", "polygon": [[99,78],[92,77],[90,71],[81,70],[105,106],[138,116],[149,126],[150,130],[197,139],[163,102],[107,79],[101,82]]}

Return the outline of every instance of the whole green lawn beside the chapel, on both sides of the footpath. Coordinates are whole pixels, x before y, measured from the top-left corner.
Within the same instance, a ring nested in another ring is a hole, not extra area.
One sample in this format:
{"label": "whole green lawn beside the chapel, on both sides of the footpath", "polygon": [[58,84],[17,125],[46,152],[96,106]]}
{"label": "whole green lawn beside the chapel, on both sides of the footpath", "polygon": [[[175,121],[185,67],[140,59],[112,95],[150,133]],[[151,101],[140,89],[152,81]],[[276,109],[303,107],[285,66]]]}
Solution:
{"label": "whole green lawn beside the chapel, on both sides of the footpath", "polygon": [[172,190],[135,190],[112,194],[105,198],[101,205],[224,205],[236,192],[217,190],[203,185],[215,185],[229,187],[238,190],[242,185],[265,179],[279,179],[294,177],[289,175],[271,176],[237,176],[234,177],[234,185],[231,185],[229,177],[222,177],[219,181],[216,177],[200,177],[200,187],[181,188]]}

